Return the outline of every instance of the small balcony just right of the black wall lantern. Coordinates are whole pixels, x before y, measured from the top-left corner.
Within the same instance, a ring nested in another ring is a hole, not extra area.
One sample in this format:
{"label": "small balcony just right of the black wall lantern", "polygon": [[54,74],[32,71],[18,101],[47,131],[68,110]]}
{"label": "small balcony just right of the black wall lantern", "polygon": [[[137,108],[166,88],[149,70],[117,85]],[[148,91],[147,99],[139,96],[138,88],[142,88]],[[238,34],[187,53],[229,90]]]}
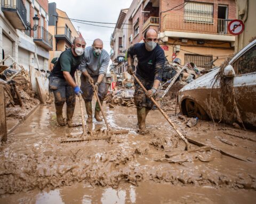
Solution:
{"label": "small balcony just right of the black wall lantern", "polygon": [[51,50],[53,37],[44,27],[38,26],[36,31],[34,31],[34,43],[41,45],[47,50]]}

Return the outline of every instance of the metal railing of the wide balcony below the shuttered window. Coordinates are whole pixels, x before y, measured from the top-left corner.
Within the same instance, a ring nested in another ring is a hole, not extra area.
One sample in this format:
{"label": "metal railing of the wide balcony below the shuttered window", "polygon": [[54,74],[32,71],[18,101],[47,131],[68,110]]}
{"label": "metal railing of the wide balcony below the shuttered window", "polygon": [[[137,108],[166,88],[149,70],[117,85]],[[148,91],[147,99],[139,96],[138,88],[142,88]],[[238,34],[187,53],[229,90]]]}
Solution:
{"label": "metal railing of the wide balcony below the shuttered window", "polygon": [[163,18],[163,31],[198,32],[230,35],[225,19],[167,14]]}

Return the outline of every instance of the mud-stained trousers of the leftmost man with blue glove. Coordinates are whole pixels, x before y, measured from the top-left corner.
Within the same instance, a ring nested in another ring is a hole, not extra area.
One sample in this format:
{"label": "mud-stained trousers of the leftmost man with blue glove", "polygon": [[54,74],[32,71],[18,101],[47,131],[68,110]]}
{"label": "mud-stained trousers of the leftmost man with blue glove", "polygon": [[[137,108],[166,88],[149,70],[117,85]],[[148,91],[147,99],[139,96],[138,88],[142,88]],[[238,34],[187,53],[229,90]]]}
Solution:
{"label": "mud-stained trousers of the leftmost man with blue glove", "polygon": [[70,122],[75,111],[75,92],[65,79],[59,77],[50,77],[50,88],[53,90],[54,94],[57,121],[60,125],[65,125],[62,117],[62,108],[66,102],[67,122]]}

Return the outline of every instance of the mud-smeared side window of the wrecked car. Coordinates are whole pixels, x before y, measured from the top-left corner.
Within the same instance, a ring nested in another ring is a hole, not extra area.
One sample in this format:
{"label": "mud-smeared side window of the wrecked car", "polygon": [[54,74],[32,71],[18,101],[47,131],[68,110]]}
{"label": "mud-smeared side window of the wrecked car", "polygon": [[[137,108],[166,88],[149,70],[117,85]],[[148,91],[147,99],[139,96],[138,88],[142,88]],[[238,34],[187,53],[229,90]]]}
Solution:
{"label": "mud-smeared side window of the wrecked car", "polygon": [[256,45],[239,57],[233,67],[237,74],[256,72]]}

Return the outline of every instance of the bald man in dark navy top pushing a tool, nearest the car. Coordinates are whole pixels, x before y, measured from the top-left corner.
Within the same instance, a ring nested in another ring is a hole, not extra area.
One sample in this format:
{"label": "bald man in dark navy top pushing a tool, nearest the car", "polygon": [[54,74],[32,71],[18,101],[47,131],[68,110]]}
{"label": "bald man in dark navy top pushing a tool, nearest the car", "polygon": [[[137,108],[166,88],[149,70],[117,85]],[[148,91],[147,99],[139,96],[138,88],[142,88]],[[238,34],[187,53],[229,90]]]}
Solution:
{"label": "bald man in dark navy top pushing a tool, nearest the car", "polygon": [[153,107],[153,102],[149,99],[154,97],[157,88],[162,81],[165,56],[163,49],[157,44],[157,32],[154,29],[145,31],[143,38],[144,43],[138,43],[128,49],[128,66],[127,72],[133,74],[133,57],[138,58],[136,67],[136,77],[141,81],[143,86],[148,90],[146,93],[134,80],[135,92],[134,102],[137,106],[137,116],[139,124],[139,133],[145,134],[146,116]]}

